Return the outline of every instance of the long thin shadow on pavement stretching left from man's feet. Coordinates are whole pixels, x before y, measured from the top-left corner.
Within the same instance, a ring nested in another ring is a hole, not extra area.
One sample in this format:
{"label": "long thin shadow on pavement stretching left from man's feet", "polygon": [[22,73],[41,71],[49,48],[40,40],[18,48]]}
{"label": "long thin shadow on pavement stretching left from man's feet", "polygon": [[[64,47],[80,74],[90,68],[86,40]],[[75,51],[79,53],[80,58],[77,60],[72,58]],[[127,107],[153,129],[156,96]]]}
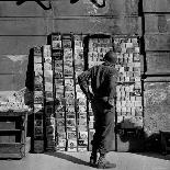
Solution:
{"label": "long thin shadow on pavement stretching left from man's feet", "polygon": [[67,155],[66,152],[45,152],[45,155],[54,156],[54,157],[57,157],[60,159],[65,159],[67,161],[71,161],[71,162],[77,163],[77,165],[83,165],[83,166],[88,166],[88,167],[90,166],[89,162],[83,161],[83,160],[76,158],[73,156]]}

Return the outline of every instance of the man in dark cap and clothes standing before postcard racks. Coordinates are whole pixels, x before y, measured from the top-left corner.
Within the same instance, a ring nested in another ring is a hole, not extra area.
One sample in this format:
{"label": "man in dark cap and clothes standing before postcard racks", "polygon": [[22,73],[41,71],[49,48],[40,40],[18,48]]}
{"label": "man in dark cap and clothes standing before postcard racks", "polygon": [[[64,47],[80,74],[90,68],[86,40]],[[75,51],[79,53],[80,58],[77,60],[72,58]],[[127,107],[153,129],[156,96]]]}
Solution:
{"label": "man in dark cap and clothes standing before postcard racks", "polygon": [[[115,69],[116,54],[107,52],[103,58],[104,63],[93,66],[78,77],[78,82],[91,102],[94,114],[94,128],[92,152],[90,157],[91,166],[95,166],[98,152],[100,157],[97,167],[100,169],[115,168],[114,163],[110,163],[105,159],[106,152],[111,150],[114,138],[114,116],[115,116],[115,95],[116,95],[116,78]],[[89,80],[91,79],[91,89],[89,90]]]}

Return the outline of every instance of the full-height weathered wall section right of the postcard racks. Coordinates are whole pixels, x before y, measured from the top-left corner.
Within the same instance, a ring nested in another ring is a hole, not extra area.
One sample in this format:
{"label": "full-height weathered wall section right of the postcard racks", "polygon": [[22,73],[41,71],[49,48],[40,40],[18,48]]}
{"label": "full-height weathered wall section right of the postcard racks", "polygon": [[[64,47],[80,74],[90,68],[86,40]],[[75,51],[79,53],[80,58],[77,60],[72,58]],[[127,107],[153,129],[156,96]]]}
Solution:
{"label": "full-height weathered wall section right of the postcard racks", "polygon": [[144,81],[145,134],[147,148],[160,147],[159,131],[170,129],[170,1],[144,0],[145,58]]}

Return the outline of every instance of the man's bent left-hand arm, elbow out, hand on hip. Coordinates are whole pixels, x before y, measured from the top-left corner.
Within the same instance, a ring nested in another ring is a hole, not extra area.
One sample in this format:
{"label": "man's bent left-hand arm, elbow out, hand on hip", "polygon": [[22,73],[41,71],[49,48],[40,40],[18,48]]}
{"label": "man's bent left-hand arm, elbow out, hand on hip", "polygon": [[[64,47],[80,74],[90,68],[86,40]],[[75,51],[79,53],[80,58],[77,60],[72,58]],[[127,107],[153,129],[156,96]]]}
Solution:
{"label": "man's bent left-hand arm, elbow out, hand on hip", "polygon": [[78,76],[78,83],[88,100],[92,100],[93,94],[89,90],[89,79],[91,78],[91,69]]}

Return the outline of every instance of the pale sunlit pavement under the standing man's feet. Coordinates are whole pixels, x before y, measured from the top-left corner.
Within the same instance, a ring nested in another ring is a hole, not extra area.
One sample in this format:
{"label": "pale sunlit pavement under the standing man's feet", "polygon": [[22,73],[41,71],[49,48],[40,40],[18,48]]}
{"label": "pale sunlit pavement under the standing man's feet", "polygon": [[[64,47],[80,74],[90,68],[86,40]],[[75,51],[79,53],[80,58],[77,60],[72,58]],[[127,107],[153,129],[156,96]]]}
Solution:
{"label": "pale sunlit pavement under the standing man's feet", "polygon": [[[0,160],[0,170],[94,170],[89,166],[90,152],[29,154],[21,160]],[[170,170],[170,155],[109,152],[113,170]]]}

